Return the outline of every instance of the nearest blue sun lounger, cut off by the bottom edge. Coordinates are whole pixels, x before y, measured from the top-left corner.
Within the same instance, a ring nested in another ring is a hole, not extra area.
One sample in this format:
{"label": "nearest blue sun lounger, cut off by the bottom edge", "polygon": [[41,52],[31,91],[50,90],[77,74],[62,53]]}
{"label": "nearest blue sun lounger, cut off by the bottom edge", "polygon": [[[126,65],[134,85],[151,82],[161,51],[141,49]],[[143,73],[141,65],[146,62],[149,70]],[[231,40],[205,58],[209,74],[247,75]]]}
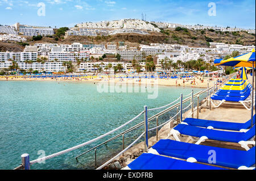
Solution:
{"label": "nearest blue sun lounger, cut off by the bottom edge", "polygon": [[191,163],[178,159],[143,153],[124,170],[224,170],[220,167]]}

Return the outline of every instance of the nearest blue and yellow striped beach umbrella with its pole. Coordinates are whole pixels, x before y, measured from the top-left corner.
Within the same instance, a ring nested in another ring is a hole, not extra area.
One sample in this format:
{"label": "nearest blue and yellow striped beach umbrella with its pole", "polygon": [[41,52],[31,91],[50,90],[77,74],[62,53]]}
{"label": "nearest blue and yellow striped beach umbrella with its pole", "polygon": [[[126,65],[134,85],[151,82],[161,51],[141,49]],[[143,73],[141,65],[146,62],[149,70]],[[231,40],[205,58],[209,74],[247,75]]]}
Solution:
{"label": "nearest blue and yellow striped beach umbrella with its pole", "polygon": [[[242,54],[240,56],[229,58],[228,60],[216,59],[214,60],[215,66],[234,66],[234,67],[249,67],[253,68],[253,86],[251,96],[251,127],[253,127],[253,102],[254,102],[254,68],[255,68],[255,49],[250,53]],[[255,110],[256,111],[256,110]]]}

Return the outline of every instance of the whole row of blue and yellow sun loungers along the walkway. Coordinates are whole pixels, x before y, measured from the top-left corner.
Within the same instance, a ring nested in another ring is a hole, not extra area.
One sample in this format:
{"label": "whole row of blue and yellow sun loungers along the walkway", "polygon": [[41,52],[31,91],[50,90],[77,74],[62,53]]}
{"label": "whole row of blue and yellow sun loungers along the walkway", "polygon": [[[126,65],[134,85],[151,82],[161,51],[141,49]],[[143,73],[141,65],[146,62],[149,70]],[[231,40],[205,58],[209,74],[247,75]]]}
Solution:
{"label": "whole row of blue and yellow sun loungers along the walkway", "polygon": [[[227,98],[225,100],[238,102],[239,98],[247,99],[250,96],[248,92],[251,93],[250,83],[232,78],[212,98],[217,99],[217,96],[221,96]],[[194,141],[194,137],[197,137],[196,143],[181,142],[181,134],[189,136]],[[168,137],[171,135],[175,140],[162,139],[158,141],[148,150],[148,153],[143,153],[124,169],[222,170],[226,168],[255,170],[255,115],[253,116],[253,127],[251,127],[251,120],[246,123],[232,123],[187,118],[171,129]],[[237,143],[245,150],[200,145],[206,140]],[[250,148],[249,145],[253,145],[253,147]],[[209,159],[211,154],[216,156],[215,160]]]}

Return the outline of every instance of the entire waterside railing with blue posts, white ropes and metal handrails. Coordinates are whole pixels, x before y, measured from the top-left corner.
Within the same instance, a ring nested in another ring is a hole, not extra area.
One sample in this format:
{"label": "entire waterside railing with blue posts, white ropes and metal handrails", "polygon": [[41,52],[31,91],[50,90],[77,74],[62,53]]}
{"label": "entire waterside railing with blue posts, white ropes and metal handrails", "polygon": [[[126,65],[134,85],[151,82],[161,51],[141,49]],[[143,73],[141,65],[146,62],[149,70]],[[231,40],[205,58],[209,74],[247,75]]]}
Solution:
{"label": "entire waterside railing with blue posts, white ropes and metal handrails", "polygon": [[[90,143],[92,143],[92,142],[94,142],[94,141],[100,140],[101,138],[104,138],[104,137],[110,135],[111,133],[114,133],[114,132],[117,131],[118,129],[121,129],[121,128],[124,127],[125,125],[131,123],[131,121],[133,121],[133,120],[137,119],[139,116],[141,116],[142,113],[144,113],[144,121],[142,121],[141,123],[138,123],[137,125],[134,125],[133,127],[129,128],[129,129],[126,129],[126,131],[123,131],[122,133],[117,134],[116,136],[110,138],[109,140],[106,140],[106,141],[102,142],[101,144],[99,144],[99,145],[97,145],[97,146],[94,146],[92,149],[89,149],[88,151],[85,151],[84,153],[78,155],[78,156],[76,157],[76,160],[77,160],[77,158],[81,157],[81,155],[84,155],[84,154],[88,153],[89,151],[94,150],[94,151],[95,151],[95,163],[96,163],[96,167],[97,167],[97,158],[96,158],[96,157],[97,157],[97,156],[96,156],[96,155],[97,155],[97,152],[96,152],[97,148],[98,148],[99,146],[101,146],[101,145],[107,144],[108,142],[115,140],[116,138],[118,138],[118,137],[120,137],[120,136],[123,136],[123,151],[121,151],[121,153],[123,154],[123,153],[125,152],[125,150],[127,150],[127,148],[124,149],[124,136],[125,136],[125,134],[126,134],[126,133],[129,133],[129,132],[131,132],[131,131],[134,131],[134,129],[137,129],[137,128],[141,127],[143,124],[144,124],[144,132],[143,132],[143,134],[144,134],[144,137],[145,137],[145,150],[144,150],[144,151],[147,151],[147,149],[148,149],[148,127],[149,127],[149,123],[150,123],[151,121],[153,121],[154,119],[156,119],[156,124],[157,124],[157,125],[156,125],[155,128],[151,128],[150,131],[153,130],[153,129],[156,129],[157,132],[158,132],[158,128],[159,128],[159,127],[161,127],[162,125],[165,125],[165,124],[169,123],[170,121],[172,121],[172,120],[174,119],[174,117],[177,116],[177,121],[178,121],[178,120],[179,120],[179,116],[178,116],[179,113],[180,113],[180,120],[182,121],[182,120],[183,120],[183,118],[182,118],[182,114],[183,114],[182,105],[183,105],[183,103],[186,103],[186,102],[188,102],[189,100],[190,100],[191,102],[193,102],[193,99],[197,96],[197,105],[198,105],[198,104],[199,104],[199,103],[198,103],[198,101],[199,101],[199,96],[200,96],[201,94],[203,94],[204,92],[206,92],[206,91],[212,89],[212,88],[213,88],[213,87],[210,87],[210,88],[207,89],[207,90],[199,91],[199,92],[197,92],[196,94],[193,94],[193,91],[192,91],[192,92],[191,92],[192,95],[189,94],[189,95],[191,95],[191,96],[188,97],[187,99],[184,99],[184,100],[183,100],[183,95],[181,94],[181,96],[180,96],[180,98],[179,98],[179,99],[180,99],[180,102],[179,102],[179,103],[176,103],[176,104],[172,105],[171,107],[166,108],[166,110],[163,110],[163,111],[161,111],[161,112],[159,112],[159,113],[156,113],[154,116],[151,116],[149,119],[147,118],[147,112],[148,112],[147,106],[144,106],[144,111],[142,111],[141,113],[139,113],[139,115],[135,116],[133,119],[131,119],[131,120],[128,121],[127,123],[121,125],[120,127],[115,128],[115,129],[113,129],[112,131],[110,131],[110,132],[108,132],[108,133],[105,133],[104,135],[102,135],[102,136],[100,136],[100,137],[94,138],[93,140],[84,142],[83,144],[80,144],[80,145],[77,145],[77,146],[73,146],[72,148],[69,148],[69,149],[66,149],[66,150],[63,150],[63,151],[59,151],[58,153],[54,153],[54,154],[48,155],[48,156],[46,156],[46,157],[43,157],[43,158],[40,158],[40,159],[36,159],[36,160],[34,160],[34,161],[29,161],[29,155],[28,155],[28,154],[23,154],[23,155],[22,155],[22,166],[16,167],[15,169],[22,169],[22,167],[23,167],[23,169],[25,169],[25,170],[30,169],[30,165],[32,165],[32,164],[34,164],[34,163],[38,163],[39,161],[41,161],[41,160],[43,160],[43,159],[45,160],[45,159],[54,158],[54,157],[57,157],[57,156],[59,156],[59,155],[61,155],[61,154],[67,153],[67,152],[69,152],[69,151],[72,151],[72,150],[75,150],[75,149],[78,149],[78,148],[81,148],[81,147],[83,147],[83,146],[86,146],[86,145],[88,145],[88,144],[90,144]],[[177,99],[177,100],[178,100],[178,99]],[[176,102],[176,101],[175,101],[175,102]],[[174,102],[172,102],[172,103],[174,103]],[[169,106],[170,104],[167,104],[167,105]],[[192,105],[193,105],[193,104],[192,104]],[[189,106],[191,106],[191,104],[189,104]],[[188,107],[189,107],[189,106],[188,106]],[[164,106],[164,107],[167,107],[167,106]],[[180,107],[180,111],[179,111],[179,107]],[[188,107],[187,107],[187,108],[188,108]],[[160,107],[160,108],[163,108],[163,107]],[[164,115],[165,113],[170,112],[171,110],[174,110],[174,108],[177,108],[177,114],[176,114],[175,116],[171,117],[170,120],[166,121],[166,123],[163,123],[163,124],[161,124],[161,125],[158,125],[158,118],[159,118],[159,116],[162,116],[162,115]],[[192,109],[193,109],[193,108],[192,108]],[[198,113],[197,113],[197,116],[198,116]],[[177,122],[177,123],[178,123],[178,122]],[[139,136],[139,138],[140,138],[140,137],[142,137],[142,135]],[[137,138],[137,140],[135,140],[135,141],[133,142],[133,144],[134,144],[136,141],[138,141],[139,138]],[[131,145],[132,145],[132,144],[131,144]],[[129,146],[131,146],[131,145],[129,145]],[[129,146],[128,146],[128,147],[129,147]],[[121,154],[121,153],[119,153],[119,154]],[[119,154],[118,154],[118,155],[119,155]],[[117,155],[116,155],[115,157],[117,157]],[[114,157],[114,158],[115,158],[115,157]],[[112,158],[112,159],[114,159],[114,158]],[[112,159],[110,159],[110,161],[111,161]],[[110,161],[108,161],[108,162],[110,162]],[[106,162],[106,163],[108,163],[108,162]],[[104,163],[104,164],[106,164],[106,163]],[[101,168],[101,167],[102,167],[102,166],[100,166],[99,168]],[[98,169],[99,169],[99,168],[98,168]]]}

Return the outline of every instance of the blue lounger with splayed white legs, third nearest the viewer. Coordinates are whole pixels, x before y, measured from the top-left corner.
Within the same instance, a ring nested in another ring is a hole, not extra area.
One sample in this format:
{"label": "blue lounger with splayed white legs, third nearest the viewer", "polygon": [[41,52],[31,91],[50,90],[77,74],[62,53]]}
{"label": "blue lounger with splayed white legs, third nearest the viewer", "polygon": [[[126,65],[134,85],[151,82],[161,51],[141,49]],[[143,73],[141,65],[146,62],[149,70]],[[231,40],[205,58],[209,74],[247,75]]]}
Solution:
{"label": "blue lounger with splayed white legs, third nearest the viewer", "polygon": [[184,134],[191,137],[199,137],[199,140],[196,140],[196,145],[199,145],[201,142],[206,140],[217,140],[217,141],[226,141],[226,142],[236,142],[242,146],[242,148],[249,150],[248,145],[255,145],[253,137],[255,137],[255,125],[249,129],[247,132],[230,132],[230,131],[219,131],[207,128],[193,127],[190,125],[179,124],[176,127],[172,128],[168,137],[172,134],[176,141],[180,141],[179,135]]}

